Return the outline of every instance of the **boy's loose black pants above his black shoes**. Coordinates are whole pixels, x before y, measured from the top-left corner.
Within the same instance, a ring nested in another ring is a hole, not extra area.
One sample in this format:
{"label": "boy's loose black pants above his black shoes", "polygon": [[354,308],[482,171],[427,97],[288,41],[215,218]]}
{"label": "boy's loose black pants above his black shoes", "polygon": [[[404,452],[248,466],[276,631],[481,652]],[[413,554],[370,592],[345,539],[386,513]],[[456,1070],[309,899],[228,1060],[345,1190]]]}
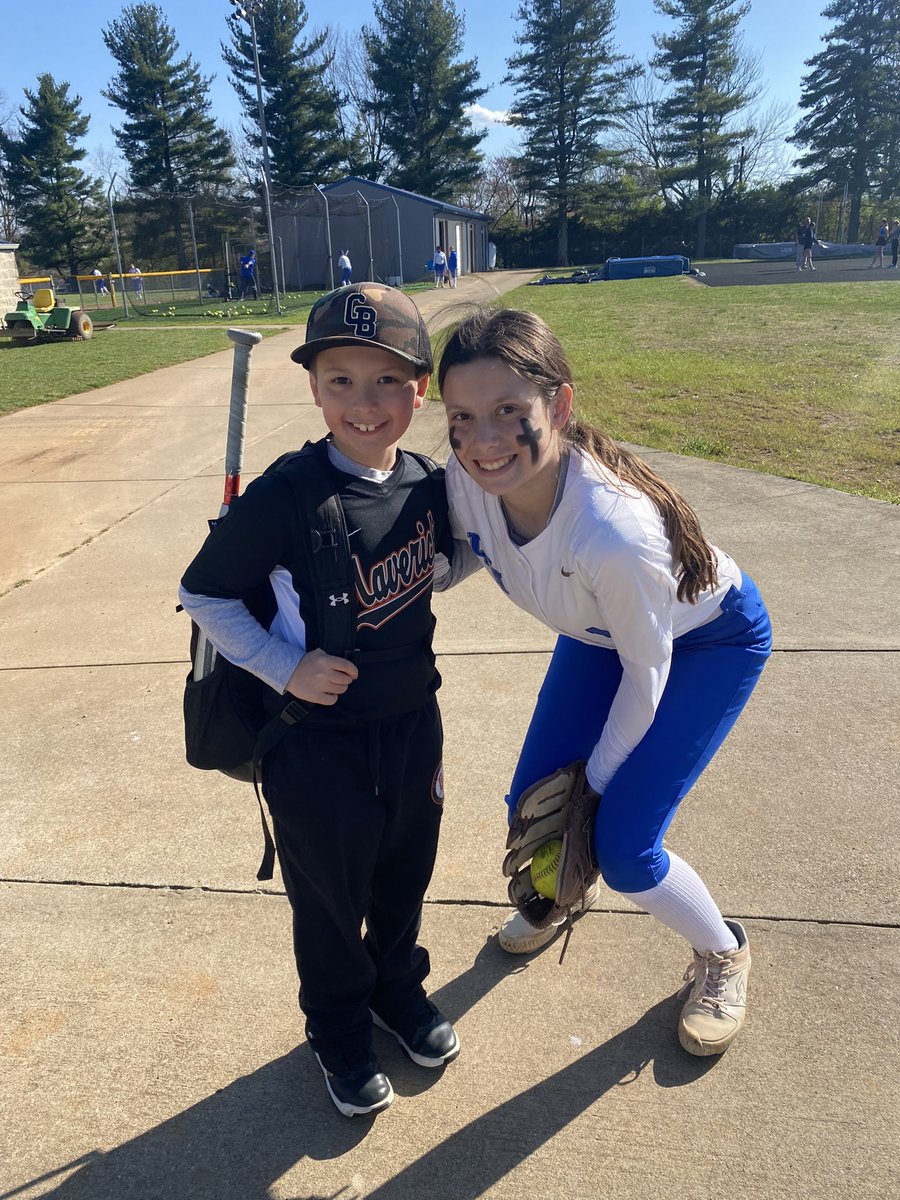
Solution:
{"label": "boy's loose black pants above his black shoes", "polygon": [[384,721],[295,726],[266,756],[263,787],[307,1034],[346,1074],[371,1056],[370,1006],[408,1010],[430,971],[418,934],[443,812],[437,700]]}

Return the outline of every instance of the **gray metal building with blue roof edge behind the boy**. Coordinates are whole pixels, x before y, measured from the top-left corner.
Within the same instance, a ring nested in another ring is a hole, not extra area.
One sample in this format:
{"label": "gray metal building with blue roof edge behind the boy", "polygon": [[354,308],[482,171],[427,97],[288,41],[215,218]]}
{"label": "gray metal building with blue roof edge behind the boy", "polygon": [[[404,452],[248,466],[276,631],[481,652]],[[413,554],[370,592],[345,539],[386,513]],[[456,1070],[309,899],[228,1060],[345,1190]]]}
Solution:
{"label": "gray metal building with blue roof edge behind the boy", "polygon": [[274,214],[284,288],[329,290],[349,252],[353,278],[414,283],[430,274],[434,247],[456,247],[460,275],[487,270],[488,217],[455,204],[350,175]]}

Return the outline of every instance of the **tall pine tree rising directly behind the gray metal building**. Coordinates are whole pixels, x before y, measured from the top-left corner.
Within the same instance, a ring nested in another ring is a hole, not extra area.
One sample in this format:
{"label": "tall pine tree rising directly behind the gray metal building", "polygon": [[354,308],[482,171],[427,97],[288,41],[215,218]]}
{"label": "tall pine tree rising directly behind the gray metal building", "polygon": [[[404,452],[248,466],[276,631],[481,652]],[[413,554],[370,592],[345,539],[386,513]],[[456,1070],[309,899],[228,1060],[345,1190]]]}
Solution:
{"label": "tall pine tree rising directly behind the gray metal building", "polygon": [[463,18],[452,0],[382,0],[362,36],[379,97],[386,181],[452,202],[478,176],[479,143],[466,115],[485,94],[462,60]]}

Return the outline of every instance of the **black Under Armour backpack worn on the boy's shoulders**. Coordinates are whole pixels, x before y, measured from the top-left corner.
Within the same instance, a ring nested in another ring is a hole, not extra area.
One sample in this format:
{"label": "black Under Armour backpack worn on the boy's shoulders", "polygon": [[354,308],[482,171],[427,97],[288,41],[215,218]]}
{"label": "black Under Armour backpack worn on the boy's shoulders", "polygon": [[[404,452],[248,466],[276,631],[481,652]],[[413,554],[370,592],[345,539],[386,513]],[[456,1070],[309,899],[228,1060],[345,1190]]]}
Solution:
{"label": "black Under Armour backpack worn on the boy's shoulders", "polygon": [[[408,451],[407,451],[408,452]],[[412,455],[431,474],[436,463]],[[298,529],[316,594],[322,649],[337,658],[386,661],[404,652],[360,654],[356,650],[356,588],[343,506],[335,491],[325,442],[307,442],[301,450],[282,455],[264,474],[277,472],[290,485],[296,504]],[[210,522],[212,527],[216,522]],[[287,700],[271,715],[272,689],[257,676],[229,662],[205,644],[203,671],[196,678],[200,630],[191,622],[191,671],[185,680],[185,755],[192,767],[221,770],[232,779],[252,782],[259,803],[265,851],[258,880],[270,880],[275,844],[265,821],[259,792],[259,767],[265,755],[314,706]]]}

